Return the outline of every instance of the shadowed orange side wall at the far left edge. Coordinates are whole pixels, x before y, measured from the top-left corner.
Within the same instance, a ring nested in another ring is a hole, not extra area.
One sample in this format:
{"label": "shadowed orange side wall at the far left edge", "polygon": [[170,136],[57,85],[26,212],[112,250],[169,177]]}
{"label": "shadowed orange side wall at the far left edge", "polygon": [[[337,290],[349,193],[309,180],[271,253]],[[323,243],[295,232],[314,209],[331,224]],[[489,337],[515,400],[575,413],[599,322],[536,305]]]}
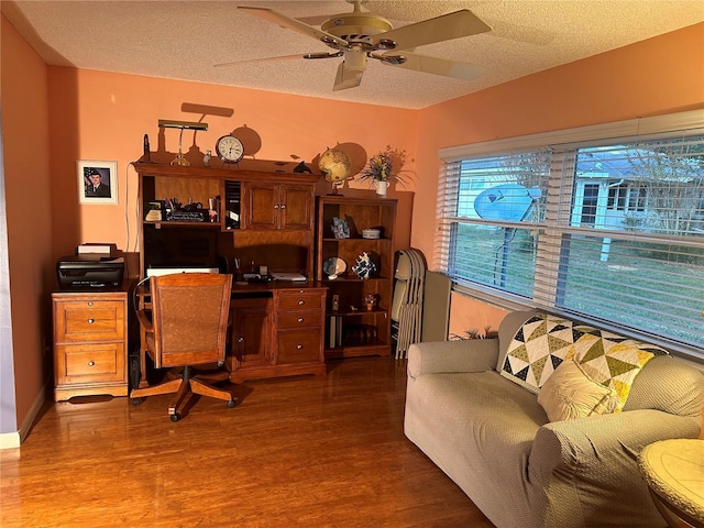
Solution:
{"label": "shadowed orange side wall at the far left edge", "polygon": [[[52,375],[42,340],[51,341],[53,198],[46,148],[50,143],[46,65],[6,18],[0,19],[2,143],[16,396],[13,431],[16,431],[32,407],[41,405],[44,382]],[[7,383],[8,375],[0,373],[0,383]],[[3,399],[2,404],[10,403]]]}

